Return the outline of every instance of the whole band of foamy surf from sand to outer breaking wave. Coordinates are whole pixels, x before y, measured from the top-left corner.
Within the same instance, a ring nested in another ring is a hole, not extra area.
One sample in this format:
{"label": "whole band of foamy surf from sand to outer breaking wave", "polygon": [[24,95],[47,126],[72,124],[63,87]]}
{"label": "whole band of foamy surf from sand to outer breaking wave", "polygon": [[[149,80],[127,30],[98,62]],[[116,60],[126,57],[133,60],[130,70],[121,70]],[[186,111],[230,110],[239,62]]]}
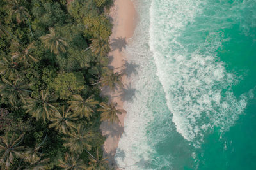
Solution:
{"label": "whole band of foamy surf from sand to outer breaking wave", "polygon": [[[216,53],[230,41],[223,29],[242,16],[225,11],[238,11],[244,2],[134,1],[138,25],[126,56],[139,67],[129,77],[136,90],[124,102],[127,116],[115,155],[118,167],[197,169],[204,137],[216,130],[221,138],[244,113],[254,92],[233,92],[243,76],[228,71]],[[241,25],[244,34],[248,25],[252,23]]]}

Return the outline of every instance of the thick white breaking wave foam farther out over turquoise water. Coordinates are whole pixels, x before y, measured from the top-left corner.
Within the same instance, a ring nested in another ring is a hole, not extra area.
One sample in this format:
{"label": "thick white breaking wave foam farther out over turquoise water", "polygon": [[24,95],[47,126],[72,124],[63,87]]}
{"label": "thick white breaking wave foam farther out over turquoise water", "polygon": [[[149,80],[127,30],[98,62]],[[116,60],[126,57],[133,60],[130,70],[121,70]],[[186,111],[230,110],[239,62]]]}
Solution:
{"label": "thick white breaking wave foam farther out over turquoise water", "polygon": [[195,43],[196,36],[184,34],[187,24],[193,25],[201,12],[200,6],[202,1],[153,0],[150,8],[150,50],[154,53],[156,74],[177,131],[196,143],[214,127],[227,131],[246,108],[246,97],[237,99],[229,88],[237,83],[236,76],[227,73],[215,54],[221,42],[228,39],[212,27],[228,24],[204,25],[209,27],[205,41],[199,39]]}

